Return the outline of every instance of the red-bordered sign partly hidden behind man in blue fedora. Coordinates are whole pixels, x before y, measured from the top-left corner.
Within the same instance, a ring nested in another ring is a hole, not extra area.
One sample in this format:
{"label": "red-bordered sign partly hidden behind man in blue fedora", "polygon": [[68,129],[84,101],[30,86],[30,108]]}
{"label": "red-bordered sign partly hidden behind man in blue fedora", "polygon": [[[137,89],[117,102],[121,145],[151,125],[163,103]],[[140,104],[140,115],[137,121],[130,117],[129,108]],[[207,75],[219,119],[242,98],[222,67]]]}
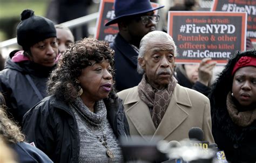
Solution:
{"label": "red-bordered sign partly hidden behind man in blue fedora", "polygon": [[[159,6],[158,3],[151,3],[153,8],[157,8]],[[158,10],[154,11],[154,14],[157,14]],[[112,24],[109,26],[105,26],[109,20],[113,19],[114,15],[114,0],[102,0],[99,5],[99,17],[96,23],[96,34],[95,38],[98,40],[106,40],[109,42],[113,42],[116,37],[118,30],[117,24]]]}

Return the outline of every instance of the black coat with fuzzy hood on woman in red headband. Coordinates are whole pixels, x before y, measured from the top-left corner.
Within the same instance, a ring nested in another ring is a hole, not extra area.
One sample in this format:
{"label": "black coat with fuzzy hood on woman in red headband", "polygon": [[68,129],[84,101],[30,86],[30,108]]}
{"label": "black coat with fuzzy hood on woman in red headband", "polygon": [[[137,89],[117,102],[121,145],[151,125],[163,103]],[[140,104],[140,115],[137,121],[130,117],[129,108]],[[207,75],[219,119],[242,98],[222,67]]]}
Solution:
{"label": "black coat with fuzzy hood on woman in red headband", "polygon": [[[256,57],[256,53],[250,55]],[[232,90],[232,70],[241,56],[242,53],[227,63],[209,95],[215,143],[220,150],[224,150],[227,160],[232,163],[256,161],[256,121],[249,126],[240,127],[233,123],[226,106],[227,94]]]}

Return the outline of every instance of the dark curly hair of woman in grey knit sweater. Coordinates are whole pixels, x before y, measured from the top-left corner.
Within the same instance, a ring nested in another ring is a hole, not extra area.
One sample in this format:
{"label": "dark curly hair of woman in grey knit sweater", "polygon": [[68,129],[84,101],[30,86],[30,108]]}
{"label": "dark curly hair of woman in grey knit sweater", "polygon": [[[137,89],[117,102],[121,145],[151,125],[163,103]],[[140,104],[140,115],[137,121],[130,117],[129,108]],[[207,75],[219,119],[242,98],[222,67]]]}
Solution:
{"label": "dark curly hair of woman in grey knit sweater", "polygon": [[[82,74],[82,69],[92,65],[89,60],[99,63],[106,59],[113,68],[113,55],[114,51],[106,41],[84,38],[71,44],[69,49],[60,55],[57,67],[50,76],[47,83],[48,93],[65,102],[73,102],[79,91],[79,84],[76,83],[77,78]],[[112,73],[112,75],[114,74]],[[115,93],[112,89],[109,97],[113,94]]]}

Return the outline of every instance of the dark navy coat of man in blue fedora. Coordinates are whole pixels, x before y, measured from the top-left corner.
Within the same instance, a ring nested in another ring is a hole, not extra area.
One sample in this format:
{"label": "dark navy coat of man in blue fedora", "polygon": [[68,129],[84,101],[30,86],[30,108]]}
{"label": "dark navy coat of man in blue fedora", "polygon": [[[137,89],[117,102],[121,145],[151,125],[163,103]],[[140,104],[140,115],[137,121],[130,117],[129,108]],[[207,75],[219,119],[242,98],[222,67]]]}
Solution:
{"label": "dark navy coat of man in blue fedora", "polygon": [[115,52],[116,89],[121,91],[137,86],[142,80],[142,75],[137,73],[138,53],[119,33],[110,46]]}

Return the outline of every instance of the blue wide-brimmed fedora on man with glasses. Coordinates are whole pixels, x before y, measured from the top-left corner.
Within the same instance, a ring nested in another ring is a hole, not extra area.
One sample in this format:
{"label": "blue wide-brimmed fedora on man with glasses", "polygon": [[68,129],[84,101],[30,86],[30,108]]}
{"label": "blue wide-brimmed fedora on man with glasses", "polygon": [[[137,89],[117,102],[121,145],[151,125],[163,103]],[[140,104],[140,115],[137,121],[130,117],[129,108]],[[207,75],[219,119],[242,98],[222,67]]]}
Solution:
{"label": "blue wide-brimmed fedora on man with glasses", "polygon": [[125,16],[131,16],[131,15],[137,15],[139,13],[150,12],[163,7],[164,6],[160,6],[158,8],[152,8],[150,0],[115,0],[114,14],[116,15],[116,18],[107,22],[105,26],[115,24],[118,22],[118,19]]}

